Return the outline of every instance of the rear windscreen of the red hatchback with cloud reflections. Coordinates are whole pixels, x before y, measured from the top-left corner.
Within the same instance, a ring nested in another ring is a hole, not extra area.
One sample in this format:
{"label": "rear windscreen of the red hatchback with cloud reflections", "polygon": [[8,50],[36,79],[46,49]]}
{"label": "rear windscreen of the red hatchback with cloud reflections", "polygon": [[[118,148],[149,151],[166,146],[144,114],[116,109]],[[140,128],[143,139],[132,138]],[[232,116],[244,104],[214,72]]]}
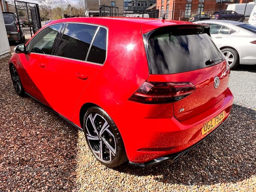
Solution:
{"label": "rear windscreen of the red hatchback with cloud reflections", "polygon": [[149,36],[146,49],[151,74],[182,73],[224,61],[212,39],[200,28],[158,29]]}

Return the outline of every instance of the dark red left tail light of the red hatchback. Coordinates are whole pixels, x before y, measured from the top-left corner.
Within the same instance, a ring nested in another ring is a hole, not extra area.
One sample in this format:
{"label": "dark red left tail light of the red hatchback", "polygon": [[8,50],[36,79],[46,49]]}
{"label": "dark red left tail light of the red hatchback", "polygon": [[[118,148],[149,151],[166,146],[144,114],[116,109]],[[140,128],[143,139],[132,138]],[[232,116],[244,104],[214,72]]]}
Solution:
{"label": "dark red left tail light of the red hatchback", "polygon": [[195,86],[189,82],[160,83],[145,81],[129,100],[146,104],[176,102],[195,90]]}

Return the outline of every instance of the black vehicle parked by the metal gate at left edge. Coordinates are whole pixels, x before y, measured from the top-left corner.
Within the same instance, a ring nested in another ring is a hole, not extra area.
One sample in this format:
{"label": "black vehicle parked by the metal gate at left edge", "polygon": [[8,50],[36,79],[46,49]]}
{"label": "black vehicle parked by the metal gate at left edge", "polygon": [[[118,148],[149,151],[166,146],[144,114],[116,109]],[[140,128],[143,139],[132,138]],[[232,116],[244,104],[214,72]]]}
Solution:
{"label": "black vehicle parked by the metal gate at left edge", "polygon": [[20,28],[16,14],[13,12],[3,12],[3,20],[9,43],[24,43],[26,40],[25,35]]}

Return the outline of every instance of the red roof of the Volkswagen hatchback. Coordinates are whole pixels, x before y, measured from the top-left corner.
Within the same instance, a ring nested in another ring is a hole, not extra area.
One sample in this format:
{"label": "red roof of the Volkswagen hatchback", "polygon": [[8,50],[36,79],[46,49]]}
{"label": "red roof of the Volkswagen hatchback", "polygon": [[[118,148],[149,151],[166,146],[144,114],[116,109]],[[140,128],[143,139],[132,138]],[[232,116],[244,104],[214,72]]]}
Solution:
{"label": "red roof of the Volkswagen hatchback", "polygon": [[119,24],[127,23],[127,25],[143,27],[143,33],[149,32],[153,29],[163,27],[163,26],[172,26],[172,25],[195,25],[195,23],[190,23],[186,21],[178,20],[161,20],[154,18],[141,18],[141,17],[72,17],[64,18],[59,20],[54,20],[50,23],[47,23],[44,27],[55,23],[66,23],[66,22],[76,22],[76,23],[92,23],[102,26],[119,26]]}

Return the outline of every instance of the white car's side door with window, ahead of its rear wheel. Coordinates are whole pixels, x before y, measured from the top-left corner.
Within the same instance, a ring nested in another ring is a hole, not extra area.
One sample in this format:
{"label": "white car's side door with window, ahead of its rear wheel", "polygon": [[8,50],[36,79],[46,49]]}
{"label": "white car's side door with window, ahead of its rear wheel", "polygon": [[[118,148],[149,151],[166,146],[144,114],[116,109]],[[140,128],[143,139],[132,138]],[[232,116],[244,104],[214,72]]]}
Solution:
{"label": "white car's side door with window, ahead of its rear wheel", "polygon": [[210,28],[210,34],[217,46],[221,44],[222,41],[224,41],[225,38],[227,38],[227,35],[229,34],[229,27],[216,24],[216,23],[206,23],[211,26]]}

